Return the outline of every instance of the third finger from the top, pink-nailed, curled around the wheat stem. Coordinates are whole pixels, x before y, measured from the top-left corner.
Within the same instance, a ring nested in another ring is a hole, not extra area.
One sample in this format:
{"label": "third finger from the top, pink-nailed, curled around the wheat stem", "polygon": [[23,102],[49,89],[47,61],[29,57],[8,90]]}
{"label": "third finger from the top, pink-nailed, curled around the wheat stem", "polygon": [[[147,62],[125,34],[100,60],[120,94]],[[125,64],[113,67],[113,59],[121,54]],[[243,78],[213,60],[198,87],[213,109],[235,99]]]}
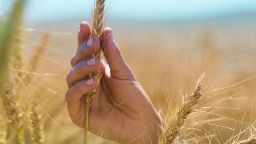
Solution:
{"label": "third finger from the top, pink-nailed, curled around the wheat stem", "polygon": [[67,74],[68,88],[83,80],[89,73],[97,71],[100,68],[100,63],[99,58],[92,58],[75,65]]}

